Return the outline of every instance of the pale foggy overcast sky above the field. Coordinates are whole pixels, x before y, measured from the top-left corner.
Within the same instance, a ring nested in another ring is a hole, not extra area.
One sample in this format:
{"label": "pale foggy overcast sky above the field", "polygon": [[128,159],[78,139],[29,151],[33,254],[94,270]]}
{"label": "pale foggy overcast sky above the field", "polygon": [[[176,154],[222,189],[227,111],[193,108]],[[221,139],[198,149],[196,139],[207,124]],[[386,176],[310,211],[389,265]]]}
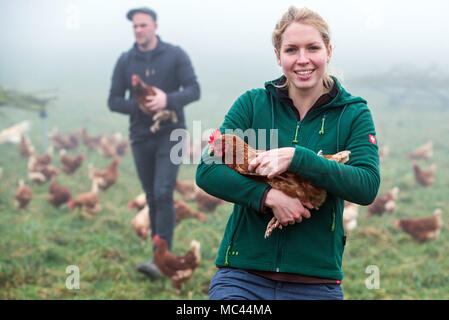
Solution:
{"label": "pale foggy overcast sky above the field", "polygon": [[260,86],[280,73],[271,33],[292,4],[328,22],[337,74],[396,64],[448,71],[449,2],[443,0],[0,0],[0,83],[109,86],[117,58],[134,41],[125,14],[149,6],[159,16],[158,34],[188,52],[200,82],[245,78]]}

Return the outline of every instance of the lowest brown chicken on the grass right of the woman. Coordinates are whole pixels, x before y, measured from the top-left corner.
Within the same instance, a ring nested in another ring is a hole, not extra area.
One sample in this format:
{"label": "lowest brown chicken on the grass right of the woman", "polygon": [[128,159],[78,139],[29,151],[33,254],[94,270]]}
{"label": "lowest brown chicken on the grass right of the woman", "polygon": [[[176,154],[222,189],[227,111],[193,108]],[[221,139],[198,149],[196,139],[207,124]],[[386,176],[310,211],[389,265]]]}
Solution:
{"label": "lowest brown chicken on the grass right of the woman", "polygon": [[435,240],[443,225],[441,214],[441,209],[436,209],[431,217],[402,219],[395,222],[395,227],[409,234],[418,242]]}

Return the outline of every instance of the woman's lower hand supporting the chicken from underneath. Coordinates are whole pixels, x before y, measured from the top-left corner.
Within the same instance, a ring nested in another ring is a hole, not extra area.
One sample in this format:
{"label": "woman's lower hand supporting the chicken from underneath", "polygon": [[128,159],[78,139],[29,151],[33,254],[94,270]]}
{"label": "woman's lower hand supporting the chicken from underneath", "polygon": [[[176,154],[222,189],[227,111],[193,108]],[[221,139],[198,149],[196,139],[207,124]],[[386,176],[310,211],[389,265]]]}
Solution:
{"label": "woman's lower hand supporting the chicken from underneath", "polygon": [[271,208],[274,216],[284,227],[289,224],[299,223],[302,218],[310,218],[313,206],[310,202],[302,204],[298,198],[287,196],[282,191],[270,189],[265,199],[265,206]]}

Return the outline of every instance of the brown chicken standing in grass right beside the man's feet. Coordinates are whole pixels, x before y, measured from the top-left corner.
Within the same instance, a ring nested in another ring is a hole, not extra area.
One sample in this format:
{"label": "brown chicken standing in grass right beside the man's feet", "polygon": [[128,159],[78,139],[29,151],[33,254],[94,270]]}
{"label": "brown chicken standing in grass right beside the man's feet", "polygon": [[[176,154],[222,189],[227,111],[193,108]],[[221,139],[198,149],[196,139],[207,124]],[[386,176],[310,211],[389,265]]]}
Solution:
{"label": "brown chicken standing in grass right beside the man's feet", "polygon": [[192,277],[201,262],[200,243],[190,242],[190,250],[183,256],[176,256],[168,250],[167,242],[158,235],[153,237],[156,246],[154,263],[159,270],[172,280],[173,287],[181,292],[182,283]]}

